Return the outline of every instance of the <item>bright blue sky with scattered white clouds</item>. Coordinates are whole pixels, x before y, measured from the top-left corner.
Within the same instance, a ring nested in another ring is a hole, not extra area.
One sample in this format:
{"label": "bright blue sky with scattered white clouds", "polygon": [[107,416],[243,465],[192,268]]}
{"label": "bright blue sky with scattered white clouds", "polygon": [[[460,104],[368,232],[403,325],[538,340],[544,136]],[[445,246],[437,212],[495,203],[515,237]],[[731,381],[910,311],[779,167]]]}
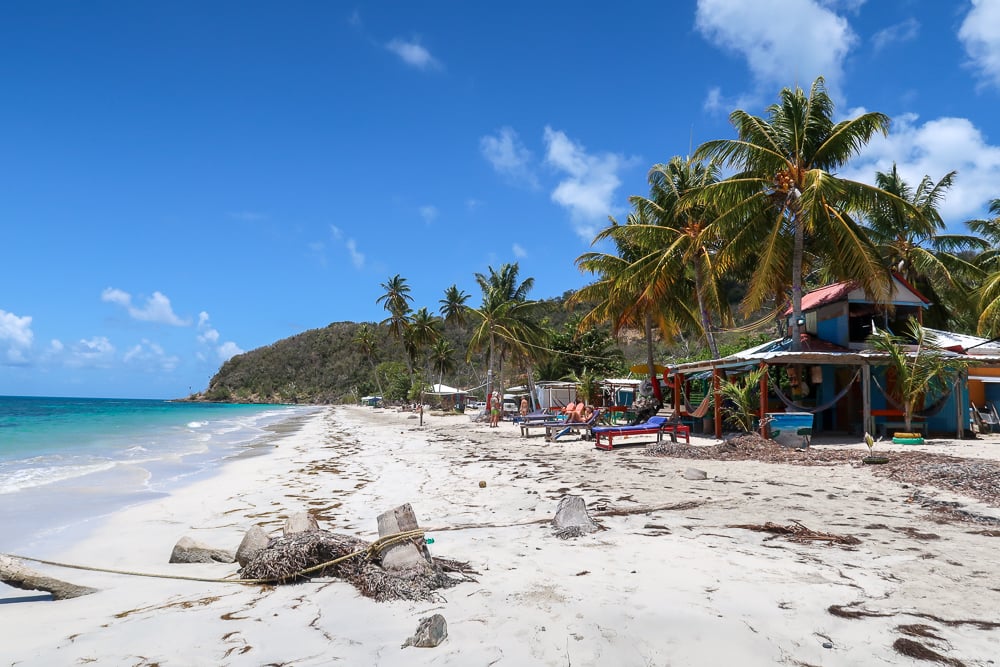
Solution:
{"label": "bright blue sky with scattered white clouds", "polygon": [[0,394],[183,396],[396,273],[560,295],[650,166],[817,75],[893,119],[845,175],[1000,197],[1000,0],[4,3]]}

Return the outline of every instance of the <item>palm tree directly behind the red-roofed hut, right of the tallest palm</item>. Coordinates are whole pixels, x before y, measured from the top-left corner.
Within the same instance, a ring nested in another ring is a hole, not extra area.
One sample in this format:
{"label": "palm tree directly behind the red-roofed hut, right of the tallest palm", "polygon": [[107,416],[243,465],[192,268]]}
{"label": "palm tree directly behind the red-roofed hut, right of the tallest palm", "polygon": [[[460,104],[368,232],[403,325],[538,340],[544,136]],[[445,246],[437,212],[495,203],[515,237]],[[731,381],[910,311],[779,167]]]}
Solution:
{"label": "palm tree directly behind the red-roofed hut, right of the tallest palm", "polygon": [[912,212],[877,209],[868,216],[866,230],[883,260],[932,302],[924,321],[931,326],[967,329],[954,322],[967,318],[975,306],[970,295],[979,269],[961,257],[966,251],[982,251],[986,241],[962,234],[941,234],[944,220],[938,204],[952,186],[956,172],[935,183],[924,176],[916,190],[900,176],[896,165],[888,173],[877,172],[875,184],[909,202]]}

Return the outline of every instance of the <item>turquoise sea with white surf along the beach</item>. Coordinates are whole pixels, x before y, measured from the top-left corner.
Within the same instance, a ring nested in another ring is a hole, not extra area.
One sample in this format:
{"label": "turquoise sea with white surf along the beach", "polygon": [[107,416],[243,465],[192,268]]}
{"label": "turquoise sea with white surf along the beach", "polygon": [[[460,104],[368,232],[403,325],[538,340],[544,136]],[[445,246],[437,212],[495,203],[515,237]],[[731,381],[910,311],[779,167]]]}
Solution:
{"label": "turquoise sea with white surf along the beach", "polygon": [[266,451],[315,410],[0,396],[0,553],[57,551],[103,515]]}

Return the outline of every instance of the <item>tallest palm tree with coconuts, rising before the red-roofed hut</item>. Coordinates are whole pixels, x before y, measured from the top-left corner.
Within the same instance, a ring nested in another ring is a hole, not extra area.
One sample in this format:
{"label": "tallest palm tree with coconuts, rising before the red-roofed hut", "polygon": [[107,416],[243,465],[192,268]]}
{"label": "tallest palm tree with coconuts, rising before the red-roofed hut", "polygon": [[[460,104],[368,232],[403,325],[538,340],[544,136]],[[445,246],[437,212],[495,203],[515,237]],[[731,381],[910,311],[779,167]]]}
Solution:
{"label": "tallest palm tree with coconuts, rising before the red-roofed hut", "polygon": [[716,224],[729,239],[726,257],[759,258],[745,309],[756,310],[790,288],[792,345],[799,350],[807,242],[840,276],[856,280],[876,301],[888,300],[889,272],[851,216],[878,207],[912,207],[880,188],[834,174],[875,134],[888,132],[889,118],[870,112],[834,123],[833,102],[820,77],[808,95],[798,87],[783,89],[766,118],[737,109],[729,120],[738,138],[704,143],[694,157],[718,160],[738,173],[703,188],[698,200],[720,211]]}

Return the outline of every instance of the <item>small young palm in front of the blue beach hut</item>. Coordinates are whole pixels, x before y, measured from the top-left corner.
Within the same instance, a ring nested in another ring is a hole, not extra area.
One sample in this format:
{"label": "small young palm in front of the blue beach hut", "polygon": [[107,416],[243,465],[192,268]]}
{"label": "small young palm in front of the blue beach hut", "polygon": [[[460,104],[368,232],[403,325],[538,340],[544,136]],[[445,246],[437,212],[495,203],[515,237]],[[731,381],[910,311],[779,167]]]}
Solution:
{"label": "small young palm in front of the blue beach hut", "polygon": [[906,430],[928,396],[951,391],[968,364],[941,348],[937,338],[915,319],[908,323],[908,338],[876,328],[868,337],[872,348],[887,355],[889,372],[895,376],[892,398],[903,409]]}

